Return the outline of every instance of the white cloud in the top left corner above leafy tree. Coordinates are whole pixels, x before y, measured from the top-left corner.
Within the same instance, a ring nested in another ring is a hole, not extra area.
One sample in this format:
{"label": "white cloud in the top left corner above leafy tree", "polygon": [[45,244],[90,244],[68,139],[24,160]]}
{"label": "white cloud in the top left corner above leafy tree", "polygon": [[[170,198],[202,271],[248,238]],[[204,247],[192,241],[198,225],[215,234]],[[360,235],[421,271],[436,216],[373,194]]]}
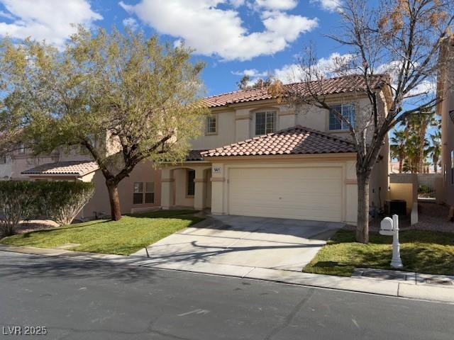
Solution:
{"label": "white cloud in the top left corner above leafy tree", "polygon": [[102,19],[87,0],[0,0],[0,3],[13,18],[12,23],[0,23],[0,36],[31,37],[57,47],[62,47],[77,30],[72,23],[91,26]]}

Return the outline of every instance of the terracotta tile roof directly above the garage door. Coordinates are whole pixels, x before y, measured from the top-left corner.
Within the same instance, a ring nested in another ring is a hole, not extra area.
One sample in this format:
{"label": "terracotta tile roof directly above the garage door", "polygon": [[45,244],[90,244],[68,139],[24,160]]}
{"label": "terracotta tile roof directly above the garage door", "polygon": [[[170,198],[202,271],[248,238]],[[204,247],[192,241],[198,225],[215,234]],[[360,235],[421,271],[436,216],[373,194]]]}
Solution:
{"label": "terracotta tile roof directly above the garage door", "polygon": [[275,154],[337,154],[355,152],[352,142],[297,125],[244,142],[202,152],[203,157],[263,156]]}

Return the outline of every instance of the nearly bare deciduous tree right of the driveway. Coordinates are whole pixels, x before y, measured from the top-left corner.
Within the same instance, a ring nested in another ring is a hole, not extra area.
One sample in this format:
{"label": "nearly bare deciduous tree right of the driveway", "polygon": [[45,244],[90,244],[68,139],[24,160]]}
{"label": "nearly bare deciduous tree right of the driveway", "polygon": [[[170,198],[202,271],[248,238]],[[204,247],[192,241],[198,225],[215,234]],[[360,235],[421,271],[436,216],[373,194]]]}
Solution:
{"label": "nearly bare deciduous tree right of the driveway", "polygon": [[[438,70],[453,64],[452,59],[438,60],[441,47],[450,38],[454,21],[452,0],[388,0],[373,6],[363,0],[345,0],[338,11],[341,27],[328,35],[347,50],[336,58],[330,69],[320,67],[314,47],[307,48],[300,60],[299,81],[304,91],[295,86],[282,86],[279,81],[271,91],[280,93],[292,105],[310,104],[331,110],[326,100],[326,77],[357,74],[362,86],[355,95],[368,99],[370,106],[356,113],[355,122],[337,111],[338,120],[348,125],[350,138],[357,151],[358,227],[356,239],[369,240],[370,174],[380,157],[388,132],[410,115],[430,112],[441,100],[434,91]],[[380,91],[375,86],[380,74],[390,91],[387,115],[380,108]]]}

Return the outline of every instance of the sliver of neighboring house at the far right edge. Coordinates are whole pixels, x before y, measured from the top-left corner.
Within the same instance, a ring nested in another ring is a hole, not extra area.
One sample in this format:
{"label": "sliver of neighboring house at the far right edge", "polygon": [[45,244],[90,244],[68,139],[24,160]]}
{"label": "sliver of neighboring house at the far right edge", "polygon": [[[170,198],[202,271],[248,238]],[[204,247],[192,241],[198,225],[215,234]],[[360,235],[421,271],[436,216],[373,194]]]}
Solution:
{"label": "sliver of neighboring house at the far right edge", "polygon": [[449,67],[442,67],[438,74],[437,92],[441,103],[441,171],[443,193],[441,202],[454,207],[454,38],[445,41],[441,48],[440,64],[450,60]]}

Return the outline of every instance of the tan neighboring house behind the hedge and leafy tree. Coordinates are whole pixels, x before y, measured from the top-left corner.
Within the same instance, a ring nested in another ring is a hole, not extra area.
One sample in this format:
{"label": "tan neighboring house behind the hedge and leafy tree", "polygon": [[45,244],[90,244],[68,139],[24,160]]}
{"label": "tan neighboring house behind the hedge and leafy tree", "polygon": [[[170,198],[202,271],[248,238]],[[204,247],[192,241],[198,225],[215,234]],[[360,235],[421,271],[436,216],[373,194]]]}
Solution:
{"label": "tan neighboring house behind the hedge and leafy tree", "polygon": [[[84,206],[77,218],[110,215],[109,194],[103,174],[96,162],[82,148],[58,151],[35,157],[25,147],[9,154],[9,179],[31,181],[92,181],[94,197]],[[1,165],[0,165],[1,169]],[[160,170],[150,161],[135,166],[131,174],[118,185],[121,212],[128,214],[160,206]]]}

